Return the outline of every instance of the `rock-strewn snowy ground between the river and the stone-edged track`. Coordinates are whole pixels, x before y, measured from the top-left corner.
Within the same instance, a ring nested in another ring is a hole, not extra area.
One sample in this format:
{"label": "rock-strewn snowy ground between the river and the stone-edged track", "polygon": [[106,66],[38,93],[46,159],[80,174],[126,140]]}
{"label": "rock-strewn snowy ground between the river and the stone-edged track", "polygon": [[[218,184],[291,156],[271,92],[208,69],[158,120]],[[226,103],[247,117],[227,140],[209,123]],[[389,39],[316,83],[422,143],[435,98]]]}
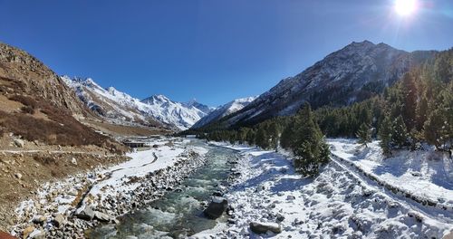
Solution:
{"label": "rock-strewn snowy ground between the river and the stone-edged track", "polygon": [[[342,142],[356,147],[352,141],[329,142],[335,154],[348,153],[348,148],[337,148]],[[319,177],[309,179],[294,173],[291,159],[283,154],[222,145],[245,157],[236,167],[238,182],[226,193],[234,212],[229,223],[218,223],[194,238],[442,238],[453,230],[453,218],[445,210],[394,194],[346,161],[333,160]],[[431,188],[419,190],[429,194]],[[448,202],[451,197],[445,193]],[[254,234],[251,222],[280,225],[282,233]]]}

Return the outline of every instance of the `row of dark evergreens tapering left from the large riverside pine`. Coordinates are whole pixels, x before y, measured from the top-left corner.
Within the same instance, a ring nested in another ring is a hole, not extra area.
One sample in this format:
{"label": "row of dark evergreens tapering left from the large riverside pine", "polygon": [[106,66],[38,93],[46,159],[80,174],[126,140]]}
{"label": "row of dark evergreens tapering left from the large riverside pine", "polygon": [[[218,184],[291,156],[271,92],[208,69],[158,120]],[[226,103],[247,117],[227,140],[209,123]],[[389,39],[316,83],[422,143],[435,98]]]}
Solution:
{"label": "row of dark evergreens tapering left from the large riverside pine", "polygon": [[294,153],[294,167],[309,177],[318,174],[330,155],[309,103],[305,103],[292,117],[268,119],[253,128],[200,133],[198,138],[247,143],[275,151],[281,146]]}

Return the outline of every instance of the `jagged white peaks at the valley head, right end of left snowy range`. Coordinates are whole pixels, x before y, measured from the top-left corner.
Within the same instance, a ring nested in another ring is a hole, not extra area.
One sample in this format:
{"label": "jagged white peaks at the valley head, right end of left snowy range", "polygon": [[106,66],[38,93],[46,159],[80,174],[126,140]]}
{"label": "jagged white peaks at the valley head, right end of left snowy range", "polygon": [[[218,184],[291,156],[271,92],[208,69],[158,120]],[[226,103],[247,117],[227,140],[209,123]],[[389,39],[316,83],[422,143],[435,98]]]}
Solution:
{"label": "jagged white peaks at the valley head, right end of left snowy range", "polygon": [[188,129],[199,119],[205,117],[212,109],[196,101],[180,103],[169,100],[163,95],[153,95],[141,100],[148,106],[149,112],[164,122],[170,122],[178,129]]}

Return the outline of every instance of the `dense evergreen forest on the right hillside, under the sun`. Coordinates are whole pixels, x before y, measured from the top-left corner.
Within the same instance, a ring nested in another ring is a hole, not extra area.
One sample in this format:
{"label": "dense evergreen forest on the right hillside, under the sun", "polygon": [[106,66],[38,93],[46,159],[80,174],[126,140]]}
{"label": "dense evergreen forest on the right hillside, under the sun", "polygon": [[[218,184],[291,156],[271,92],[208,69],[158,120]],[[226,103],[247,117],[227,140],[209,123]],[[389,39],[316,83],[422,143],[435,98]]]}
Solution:
{"label": "dense evergreen forest on the right hillside, under the sun", "polygon": [[453,142],[453,50],[404,74],[401,81],[369,100],[342,108],[323,107],[316,119],[327,137],[358,137],[366,146],[381,139],[390,156],[396,148],[423,142],[451,153]]}

